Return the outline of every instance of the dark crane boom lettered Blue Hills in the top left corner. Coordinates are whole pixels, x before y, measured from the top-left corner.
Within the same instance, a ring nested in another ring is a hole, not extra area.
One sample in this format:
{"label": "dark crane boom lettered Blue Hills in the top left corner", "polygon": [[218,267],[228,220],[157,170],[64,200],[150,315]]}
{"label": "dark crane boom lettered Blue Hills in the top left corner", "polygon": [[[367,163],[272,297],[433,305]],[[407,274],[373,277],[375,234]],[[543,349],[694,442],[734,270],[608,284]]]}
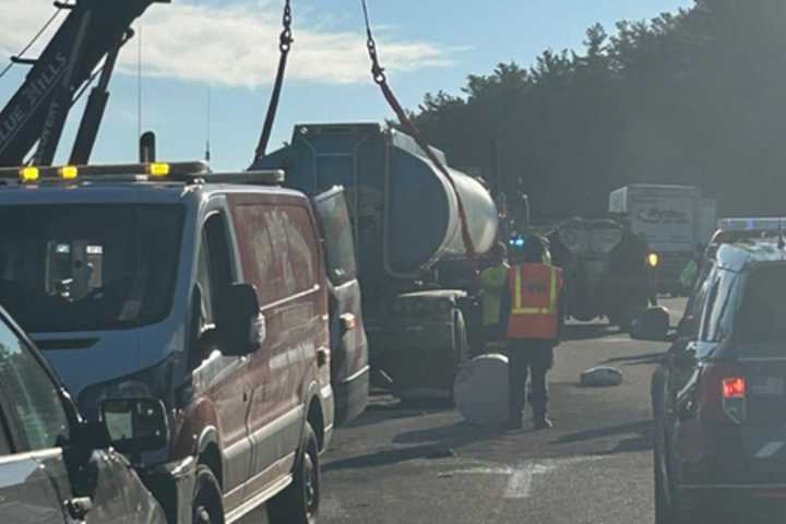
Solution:
{"label": "dark crane boom lettered Blue Hills in the top left corner", "polygon": [[[12,57],[32,69],[0,111],[0,167],[50,166],[74,103],[98,78],[71,152],[70,165],[87,164],[109,100],[109,82],[133,22],[153,3],[170,0],[57,1],[62,25],[38,58]],[[28,157],[31,151],[32,156]]]}

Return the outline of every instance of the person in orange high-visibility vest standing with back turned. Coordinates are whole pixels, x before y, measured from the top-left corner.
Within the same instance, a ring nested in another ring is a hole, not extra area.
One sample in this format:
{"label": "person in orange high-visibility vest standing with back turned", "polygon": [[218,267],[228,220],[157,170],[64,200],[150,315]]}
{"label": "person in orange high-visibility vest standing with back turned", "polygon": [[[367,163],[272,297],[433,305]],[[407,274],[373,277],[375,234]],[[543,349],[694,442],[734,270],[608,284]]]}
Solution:
{"label": "person in orange high-visibility vest standing with back turned", "polygon": [[[513,258],[515,257],[515,258]],[[546,373],[553,366],[559,344],[562,272],[550,264],[548,241],[529,237],[512,255],[503,308],[508,313],[509,402],[511,429],[523,427],[527,374],[536,429],[552,426],[548,418]]]}

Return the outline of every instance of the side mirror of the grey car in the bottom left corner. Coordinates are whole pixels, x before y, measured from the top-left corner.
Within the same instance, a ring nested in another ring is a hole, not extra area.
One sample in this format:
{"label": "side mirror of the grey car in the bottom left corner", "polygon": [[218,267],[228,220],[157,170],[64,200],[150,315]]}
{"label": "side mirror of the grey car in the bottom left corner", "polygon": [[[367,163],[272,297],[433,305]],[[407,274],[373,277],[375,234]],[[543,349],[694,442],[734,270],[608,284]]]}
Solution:
{"label": "side mirror of the grey car in the bottom left corner", "polygon": [[169,443],[166,407],[158,398],[109,398],[102,402],[100,412],[120,453],[156,451]]}

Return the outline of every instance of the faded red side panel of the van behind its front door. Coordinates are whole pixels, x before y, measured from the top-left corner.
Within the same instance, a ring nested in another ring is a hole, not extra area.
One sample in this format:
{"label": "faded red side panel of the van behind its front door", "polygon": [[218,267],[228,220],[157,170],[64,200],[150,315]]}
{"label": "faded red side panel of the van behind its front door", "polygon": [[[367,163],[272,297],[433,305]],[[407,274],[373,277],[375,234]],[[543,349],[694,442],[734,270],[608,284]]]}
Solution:
{"label": "faded red side panel of the van behind its front door", "polygon": [[313,222],[308,207],[300,205],[303,201],[248,193],[233,194],[229,202],[243,278],[257,289],[265,323],[265,340],[249,368],[252,468],[264,472],[246,487],[251,496],[294,464],[305,415],[303,388],[318,379],[317,349],[326,346],[320,298],[324,290]]}

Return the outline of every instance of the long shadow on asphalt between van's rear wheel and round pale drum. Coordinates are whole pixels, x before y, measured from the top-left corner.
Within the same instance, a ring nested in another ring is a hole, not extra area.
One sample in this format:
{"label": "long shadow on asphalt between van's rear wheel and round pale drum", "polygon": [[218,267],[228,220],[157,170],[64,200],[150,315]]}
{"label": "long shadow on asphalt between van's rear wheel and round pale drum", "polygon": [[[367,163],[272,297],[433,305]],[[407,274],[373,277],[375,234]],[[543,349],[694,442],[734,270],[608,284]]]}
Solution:
{"label": "long shadow on asphalt between van's rear wheel and round pale drum", "polygon": [[420,429],[398,434],[394,444],[419,444],[409,448],[385,450],[366,455],[331,462],[322,467],[324,472],[380,467],[416,460],[451,458],[456,450],[481,440],[503,434],[503,430],[478,428],[466,422],[452,424],[432,429]]}

